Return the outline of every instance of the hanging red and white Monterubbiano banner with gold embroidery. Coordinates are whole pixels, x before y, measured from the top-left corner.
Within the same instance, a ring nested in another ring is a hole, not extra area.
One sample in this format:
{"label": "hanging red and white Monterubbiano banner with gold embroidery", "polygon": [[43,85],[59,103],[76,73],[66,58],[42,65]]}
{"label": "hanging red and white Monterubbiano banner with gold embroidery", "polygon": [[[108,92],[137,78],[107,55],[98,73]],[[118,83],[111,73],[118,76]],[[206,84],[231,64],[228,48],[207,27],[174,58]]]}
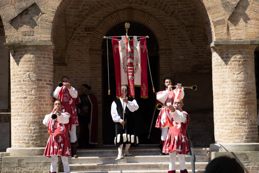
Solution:
{"label": "hanging red and white Monterubbiano banner with gold embroidery", "polygon": [[121,40],[117,40],[117,36],[112,38],[117,98],[121,96],[121,85],[128,86],[128,94],[132,98],[135,86],[141,87],[141,98],[148,98],[146,38],[140,37],[138,41],[136,36],[132,36],[130,49],[126,36],[121,36]]}

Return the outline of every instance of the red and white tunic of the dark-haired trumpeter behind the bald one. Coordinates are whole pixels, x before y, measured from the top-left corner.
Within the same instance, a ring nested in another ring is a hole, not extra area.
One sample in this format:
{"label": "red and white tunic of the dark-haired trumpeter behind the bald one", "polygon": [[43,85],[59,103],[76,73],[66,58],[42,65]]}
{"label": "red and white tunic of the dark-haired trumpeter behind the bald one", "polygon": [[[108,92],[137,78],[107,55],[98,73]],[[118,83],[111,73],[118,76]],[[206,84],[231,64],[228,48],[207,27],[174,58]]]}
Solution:
{"label": "red and white tunic of the dark-haired trumpeter behind the bald one", "polygon": [[[175,99],[183,99],[184,97],[184,91],[182,89],[174,89],[168,91],[167,89],[164,91],[159,91],[156,93],[156,102],[157,104],[160,103],[162,106],[167,105],[174,105]],[[169,108],[164,107],[160,110],[160,113],[156,120],[156,126],[157,128],[161,129],[162,127],[168,127],[168,123],[166,121],[167,117],[169,118]],[[167,117],[166,117],[167,116]]]}

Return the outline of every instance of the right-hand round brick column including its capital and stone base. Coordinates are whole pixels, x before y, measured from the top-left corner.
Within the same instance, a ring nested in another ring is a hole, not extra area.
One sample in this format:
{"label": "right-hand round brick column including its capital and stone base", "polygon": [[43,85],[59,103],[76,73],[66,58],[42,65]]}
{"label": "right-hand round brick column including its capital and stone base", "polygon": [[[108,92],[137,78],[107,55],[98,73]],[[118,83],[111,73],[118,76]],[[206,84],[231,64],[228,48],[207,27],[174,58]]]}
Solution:
{"label": "right-hand round brick column including its capital and stone base", "polygon": [[245,172],[257,172],[259,143],[254,50],[258,41],[214,41],[212,83],[215,143],[210,157],[235,158]]}

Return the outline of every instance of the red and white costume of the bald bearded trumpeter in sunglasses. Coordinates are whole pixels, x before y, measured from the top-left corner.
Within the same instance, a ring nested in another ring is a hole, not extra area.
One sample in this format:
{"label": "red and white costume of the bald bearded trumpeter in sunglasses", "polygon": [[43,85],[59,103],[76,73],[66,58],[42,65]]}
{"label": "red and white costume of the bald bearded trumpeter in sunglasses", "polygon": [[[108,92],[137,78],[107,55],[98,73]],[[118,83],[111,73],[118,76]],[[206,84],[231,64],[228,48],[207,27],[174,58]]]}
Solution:
{"label": "red and white costume of the bald bearded trumpeter in sunglasses", "polygon": [[170,117],[174,127],[170,127],[163,146],[163,153],[172,153],[176,151],[177,154],[188,154],[189,145],[186,137],[186,130],[189,123],[189,115],[187,112],[175,110],[170,112]]}

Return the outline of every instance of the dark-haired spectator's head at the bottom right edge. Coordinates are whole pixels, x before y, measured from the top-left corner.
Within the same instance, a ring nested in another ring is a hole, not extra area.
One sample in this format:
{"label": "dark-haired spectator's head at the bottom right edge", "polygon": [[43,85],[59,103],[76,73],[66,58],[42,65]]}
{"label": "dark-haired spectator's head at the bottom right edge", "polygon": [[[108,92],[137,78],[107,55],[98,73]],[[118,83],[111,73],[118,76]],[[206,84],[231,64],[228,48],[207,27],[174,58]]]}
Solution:
{"label": "dark-haired spectator's head at the bottom right edge", "polygon": [[204,173],[244,173],[244,169],[235,158],[221,156],[214,158],[206,166]]}

